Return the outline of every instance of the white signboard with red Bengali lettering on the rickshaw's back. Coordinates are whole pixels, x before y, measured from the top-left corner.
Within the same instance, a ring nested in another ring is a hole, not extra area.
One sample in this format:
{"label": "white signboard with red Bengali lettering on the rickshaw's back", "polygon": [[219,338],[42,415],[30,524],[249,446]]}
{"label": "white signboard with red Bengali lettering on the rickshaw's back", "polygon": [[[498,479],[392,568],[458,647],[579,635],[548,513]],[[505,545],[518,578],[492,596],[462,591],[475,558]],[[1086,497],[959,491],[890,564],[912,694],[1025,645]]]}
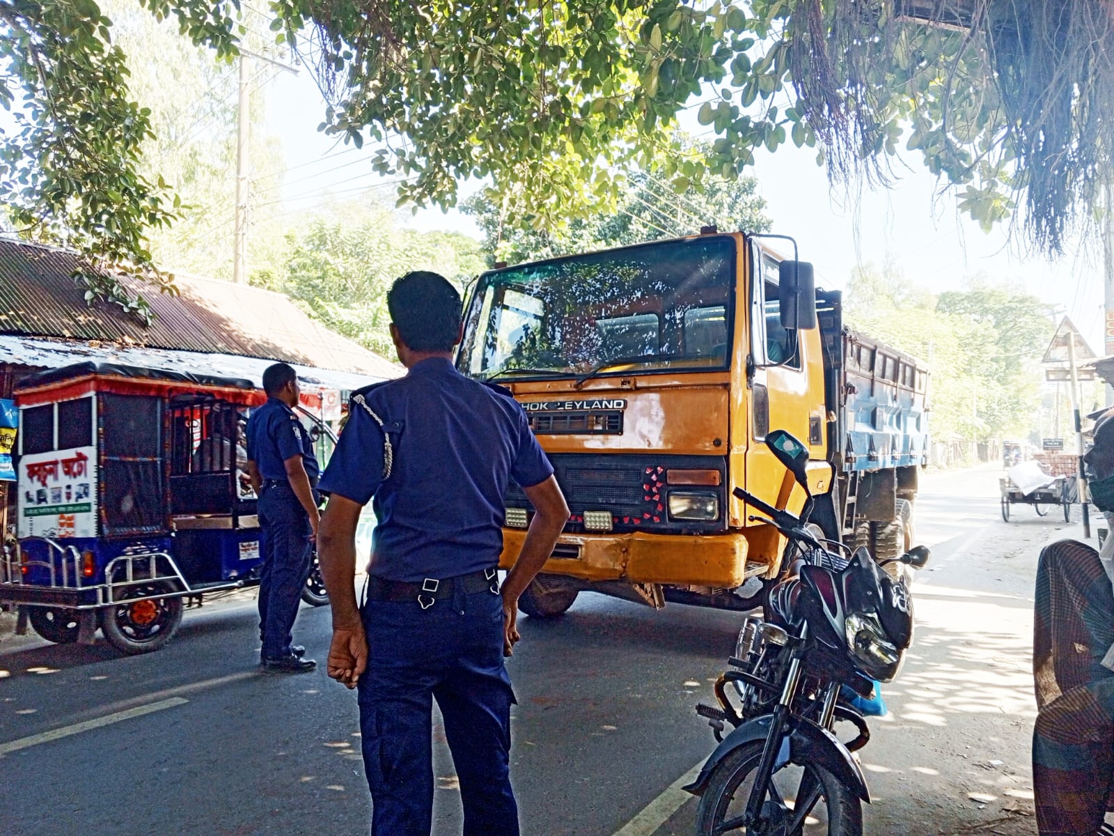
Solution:
{"label": "white signboard with red Bengali lettering on the rickshaw's back", "polygon": [[19,459],[19,536],[97,536],[97,448]]}

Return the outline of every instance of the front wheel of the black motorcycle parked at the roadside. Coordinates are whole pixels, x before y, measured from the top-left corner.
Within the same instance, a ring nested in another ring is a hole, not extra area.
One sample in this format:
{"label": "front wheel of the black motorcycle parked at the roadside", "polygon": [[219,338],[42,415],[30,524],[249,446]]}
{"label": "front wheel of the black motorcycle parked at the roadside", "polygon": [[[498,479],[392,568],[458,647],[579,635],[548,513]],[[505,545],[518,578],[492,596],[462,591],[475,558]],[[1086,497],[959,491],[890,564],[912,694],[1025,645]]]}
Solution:
{"label": "front wheel of the black motorcycle parked at the roadside", "polygon": [[[744,825],[762,740],[739,747],[709,778],[696,811],[700,836],[862,836],[862,806],[836,776],[818,764],[784,764],[770,779],[761,824]],[[798,809],[800,805],[804,810]],[[800,820],[803,811],[803,822]]]}

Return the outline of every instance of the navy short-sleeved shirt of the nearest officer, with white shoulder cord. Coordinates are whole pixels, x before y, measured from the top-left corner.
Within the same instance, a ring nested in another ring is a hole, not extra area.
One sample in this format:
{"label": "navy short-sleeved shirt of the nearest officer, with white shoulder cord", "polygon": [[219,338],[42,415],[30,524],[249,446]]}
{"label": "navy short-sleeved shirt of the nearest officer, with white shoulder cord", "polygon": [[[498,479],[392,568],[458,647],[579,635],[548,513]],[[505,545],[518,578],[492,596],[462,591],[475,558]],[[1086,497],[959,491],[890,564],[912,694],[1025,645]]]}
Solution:
{"label": "navy short-sleeved shirt of the nearest officer, with white shoulder cord", "polygon": [[[414,582],[496,565],[508,480],[530,487],[554,472],[510,392],[441,358],[361,389],[349,410],[320,488],[361,505],[374,497],[375,577]],[[393,451],[387,479],[384,431]]]}

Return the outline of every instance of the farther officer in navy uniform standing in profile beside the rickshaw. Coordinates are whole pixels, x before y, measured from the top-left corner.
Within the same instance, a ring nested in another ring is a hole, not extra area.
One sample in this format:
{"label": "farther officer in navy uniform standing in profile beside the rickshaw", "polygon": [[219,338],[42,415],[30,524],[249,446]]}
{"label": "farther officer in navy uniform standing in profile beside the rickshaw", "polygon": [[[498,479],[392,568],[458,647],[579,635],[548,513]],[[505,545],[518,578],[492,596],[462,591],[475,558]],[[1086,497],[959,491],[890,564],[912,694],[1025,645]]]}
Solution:
{"label": "farther officer in navy uniform standing in profile beside the rickshaw", "polygon": [[313,561],[317,533],[314,488],[321,468],[313,441],[294,414],[297,373],[275,363],[263,372],[267,402],[247,421],[247,473],[258,497],[263,528],[263,574],[260,582],[260,661],[267,670],[293,673],[313,670],[305,648],[291,643],[302,589]]}

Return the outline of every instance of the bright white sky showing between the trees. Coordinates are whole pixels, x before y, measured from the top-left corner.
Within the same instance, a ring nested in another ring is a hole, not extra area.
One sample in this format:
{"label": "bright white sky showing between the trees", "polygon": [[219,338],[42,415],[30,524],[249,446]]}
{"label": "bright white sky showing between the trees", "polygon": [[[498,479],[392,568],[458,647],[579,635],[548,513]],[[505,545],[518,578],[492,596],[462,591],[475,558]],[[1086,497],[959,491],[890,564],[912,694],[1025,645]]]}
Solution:
{"label": "bright white sky showing between the trees", "polygon": [[[275,74],[264,93],[266,129],[281,140],[290,169],[285,210],[309,208],[326,191],[351,195],[374,186],[384,198],[393,198],[393,187],[362,162],[368,154],[317,133],[325,106],[304,70],[297,76]],[[980,274],[994,282],[1022,283],[1049,304],[1049,315],[1066,313],[1091,348],[1100,356],[1106,353],[1102,252],[1093,243],[1077,244],[1054,262],[1026,255],[1010,243],[1008,227],[987,234],[960,216],[955,195],[941,191],[915,158],[895,166],[893,187],[862,188],[853,200],[846,189],[830,187],[810,149],[786,145],[773,154],[760,152],[753,174],[773,221],[771,232],[797,240],[801,259],[815,268],[818,284],[843,288],[856,266],[883,263],[938,291],[960,290],[965,281]],[[461,193],[477,187],[463,183]],[[419,230],[479,237],[472,221],[459,212],[419,211],[407,223]]]}

